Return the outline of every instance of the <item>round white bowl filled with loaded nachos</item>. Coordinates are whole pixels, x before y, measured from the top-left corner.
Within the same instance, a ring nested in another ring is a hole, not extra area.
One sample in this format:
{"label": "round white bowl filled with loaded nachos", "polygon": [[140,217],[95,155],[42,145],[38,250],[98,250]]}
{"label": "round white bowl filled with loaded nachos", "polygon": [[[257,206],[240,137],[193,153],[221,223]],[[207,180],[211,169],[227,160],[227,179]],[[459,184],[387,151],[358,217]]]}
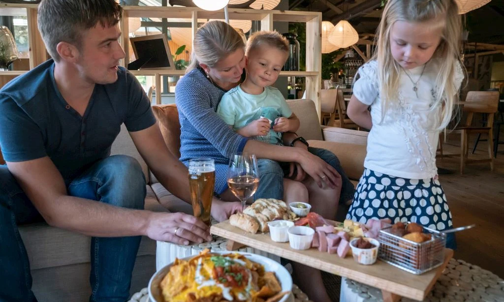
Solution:
{"label": "round white bowl filled with loaded nachos", "polygon": [[148,288],[153,302],[285,302],[292,278],[264,256],[204,250],[157,271]]}

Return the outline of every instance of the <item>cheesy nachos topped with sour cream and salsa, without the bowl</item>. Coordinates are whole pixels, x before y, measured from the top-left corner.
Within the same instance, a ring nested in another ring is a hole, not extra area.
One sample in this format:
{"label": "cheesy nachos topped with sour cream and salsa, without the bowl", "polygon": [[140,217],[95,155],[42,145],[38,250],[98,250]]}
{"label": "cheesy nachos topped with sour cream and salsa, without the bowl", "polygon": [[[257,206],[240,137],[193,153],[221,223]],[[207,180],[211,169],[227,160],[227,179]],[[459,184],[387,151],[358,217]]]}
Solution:
{"label": "cheesy nachos topped with sour cream and salsa, without the bowl", "polygon": [[[274,279],[274,280],[272,280]],[[240,254],[211,254],[176,259],[161,282],[165,301],[254,301],[277,294],[274,273]]]}

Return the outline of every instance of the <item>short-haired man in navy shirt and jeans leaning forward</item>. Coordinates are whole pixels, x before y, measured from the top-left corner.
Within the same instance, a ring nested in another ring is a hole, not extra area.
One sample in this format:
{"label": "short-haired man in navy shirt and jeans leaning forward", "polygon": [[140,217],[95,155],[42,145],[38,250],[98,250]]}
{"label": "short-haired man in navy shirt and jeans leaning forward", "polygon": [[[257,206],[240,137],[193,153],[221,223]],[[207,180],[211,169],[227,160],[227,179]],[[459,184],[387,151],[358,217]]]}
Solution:
{"label": "short-haired man in navy shirt and jeans leaning forward", "polygon": [[[91,301],[124,301],[140,235],[188,244],[210,240],[207,226],[183,213],[143,210],[138,162],[110,156],[125,124],[157,179],[190,200],[187,169],[169,151],[136,78],[118,67],[122,9],[114,0],[43,0],[38,26],[51,60],[0,91],[0,300],[36,301],[19,223],[92,236]],[[214,200],[226,218],[239,202]]]}

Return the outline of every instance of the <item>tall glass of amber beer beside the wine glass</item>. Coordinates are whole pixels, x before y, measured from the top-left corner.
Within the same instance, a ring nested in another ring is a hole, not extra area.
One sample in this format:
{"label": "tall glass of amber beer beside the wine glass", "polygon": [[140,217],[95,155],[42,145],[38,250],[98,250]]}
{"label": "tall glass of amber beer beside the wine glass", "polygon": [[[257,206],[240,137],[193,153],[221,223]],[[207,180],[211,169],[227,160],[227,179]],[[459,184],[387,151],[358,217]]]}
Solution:
{"label": "tall glass of amber beer beside the wine glass", "polygon": [[210,210],[214,196],[215,164],[212,159],[193,159],[189,161],[189,189],[193,213],[210,225]]}

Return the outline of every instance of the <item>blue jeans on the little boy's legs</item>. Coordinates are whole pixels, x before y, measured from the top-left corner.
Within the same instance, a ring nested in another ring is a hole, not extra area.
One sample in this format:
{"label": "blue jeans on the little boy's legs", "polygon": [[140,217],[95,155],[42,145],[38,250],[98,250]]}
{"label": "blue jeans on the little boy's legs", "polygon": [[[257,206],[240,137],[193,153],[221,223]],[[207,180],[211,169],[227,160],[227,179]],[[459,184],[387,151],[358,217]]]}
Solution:
{"label": "blue jeans on the little boy's legs", "polygon": [[[308,151],[320,157],[341,175],[342,187],[340,202],[351,199],[354,195],[355,188],[346,176],[345,171],[343,171],[336,155],[322,148],[308,147]],[[284,171],[281,163],[268,159],[259,159],[257,164],[259,168],[259,188],[254,195],[254,200],[259,198],[275,198],[282,200]]]}

